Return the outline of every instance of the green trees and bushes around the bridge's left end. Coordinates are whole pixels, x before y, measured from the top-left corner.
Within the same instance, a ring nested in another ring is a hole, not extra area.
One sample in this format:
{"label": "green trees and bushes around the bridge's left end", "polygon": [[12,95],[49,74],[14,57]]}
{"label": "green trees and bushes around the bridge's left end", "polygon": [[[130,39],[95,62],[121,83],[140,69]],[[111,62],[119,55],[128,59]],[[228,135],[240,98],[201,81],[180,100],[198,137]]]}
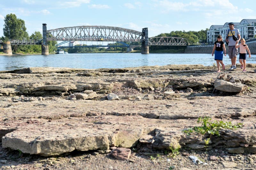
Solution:
{"label": "green trees and bushes around the bridge's left end", "polygon": [[[28,35],[27,28],[25,26],[24,20],[17,18],[15,14],[7,14],[4,17],[4,36],[0,39],[3,41],[11,40],[42,40],[43,36],[41,32],[35,31],[30,36]],[[56,50],[57,41],[47,41],[49,46],[49,53]],[[14,53],[41,53],[41,46],[39,45],[12,45],[12,50]]]}

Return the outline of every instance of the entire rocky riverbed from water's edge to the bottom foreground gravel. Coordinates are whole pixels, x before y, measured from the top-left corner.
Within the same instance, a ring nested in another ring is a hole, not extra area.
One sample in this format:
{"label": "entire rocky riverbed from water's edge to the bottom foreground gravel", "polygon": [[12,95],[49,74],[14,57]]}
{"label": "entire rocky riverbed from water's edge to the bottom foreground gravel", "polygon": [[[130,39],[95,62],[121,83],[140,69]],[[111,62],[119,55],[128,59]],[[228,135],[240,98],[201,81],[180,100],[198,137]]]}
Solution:
{"label": "entire rocky riverbed from water's edge to the bottom foreground gravel", "polygon": [[0,167],[255,169],[255,69],[2,71]]}

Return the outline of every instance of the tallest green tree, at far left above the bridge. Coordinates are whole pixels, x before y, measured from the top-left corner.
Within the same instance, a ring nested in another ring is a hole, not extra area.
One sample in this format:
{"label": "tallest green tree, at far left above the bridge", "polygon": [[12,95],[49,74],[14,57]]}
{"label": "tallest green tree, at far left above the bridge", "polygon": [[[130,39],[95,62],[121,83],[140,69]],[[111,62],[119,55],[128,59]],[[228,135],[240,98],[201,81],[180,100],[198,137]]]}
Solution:
{"label": "tallest green tree, at far left above the bridge", "polygon": [[28,39],[25,22],[16,17],[15,14],[7,14],[4,17],[4,36],[8,39]]}

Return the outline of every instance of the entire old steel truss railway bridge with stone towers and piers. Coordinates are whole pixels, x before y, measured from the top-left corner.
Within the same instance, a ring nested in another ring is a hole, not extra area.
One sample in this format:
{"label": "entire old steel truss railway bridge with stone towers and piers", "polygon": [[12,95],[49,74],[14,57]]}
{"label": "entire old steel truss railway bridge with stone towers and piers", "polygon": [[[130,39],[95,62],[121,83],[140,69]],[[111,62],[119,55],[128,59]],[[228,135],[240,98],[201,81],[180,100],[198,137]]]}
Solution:
{"label": "entire old steel truss railway bridge with stone towers and piers", "polygon": [[49,55],[47,41],[116,41],[116,42],[141,42],[141,53],[148,54],[149,46],[186,46],[187,39],[177,37],[152,37],[148,38],[148,28],[135,31],[112,26],[74,26],[47,30],[43,24],[43,40],[12,40],[1,42],[4,53],[12,53],[11,45],[41,45],[42,55]]}

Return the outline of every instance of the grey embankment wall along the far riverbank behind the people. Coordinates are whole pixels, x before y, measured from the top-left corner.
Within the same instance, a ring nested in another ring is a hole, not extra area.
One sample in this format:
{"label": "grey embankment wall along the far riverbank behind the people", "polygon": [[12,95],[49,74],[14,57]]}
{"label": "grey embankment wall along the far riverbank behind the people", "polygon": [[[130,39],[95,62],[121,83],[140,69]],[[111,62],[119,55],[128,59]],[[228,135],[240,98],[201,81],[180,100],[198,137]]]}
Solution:
{"label": "grey embankment wall along the far riverbank behind the people", "polygon": [[[256,42],[246,43],[246,44],[248,45],[251,54],[256,54]],[[228,45],[225,45],[225,46],[228,53]],[[184,53],[212,53],[212,49],[213,49],[213,45],[187,46]]]}

